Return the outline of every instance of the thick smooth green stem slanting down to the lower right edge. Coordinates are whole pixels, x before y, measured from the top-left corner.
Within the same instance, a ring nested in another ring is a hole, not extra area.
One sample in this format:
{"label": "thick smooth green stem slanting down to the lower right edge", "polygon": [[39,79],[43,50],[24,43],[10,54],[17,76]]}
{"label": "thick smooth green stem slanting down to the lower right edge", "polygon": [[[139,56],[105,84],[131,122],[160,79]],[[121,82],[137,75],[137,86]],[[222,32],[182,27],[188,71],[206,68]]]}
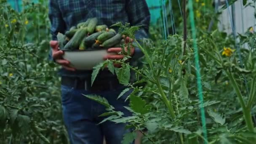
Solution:
{"label": "thick smooth green stem slanting down to the lower right edge", "polygon": [[242,93],[241,93],[240,89],[238,88],[237,82],[235,81],[235,78],[233,77],[232,73],[229,73],[227,70],[225,70],[225,72],[226,72],[227,76],[229,77],[229,80],[231,81],[232,86],[235,89],[235,92],[240,101],[240,105],[243,109],[243,115],[245,118],[245,123],[247,125],[247,128],[250,132],[254,132],[253,121],[252,121],[252,117],[251,117],[251,110],[247,109],[247,107],[245,106],[245,102],[243,100]]}

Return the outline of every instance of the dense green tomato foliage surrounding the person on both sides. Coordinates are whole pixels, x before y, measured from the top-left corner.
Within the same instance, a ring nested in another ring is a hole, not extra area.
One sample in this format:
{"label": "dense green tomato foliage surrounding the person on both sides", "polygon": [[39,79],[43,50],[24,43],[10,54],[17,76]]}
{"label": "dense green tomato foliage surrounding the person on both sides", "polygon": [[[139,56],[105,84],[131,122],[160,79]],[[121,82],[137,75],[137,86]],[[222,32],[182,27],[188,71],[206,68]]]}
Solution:
{"label": "dense green tomato foliage surrounding the person on both sides", "polygon": [[[48,60],[51,35],[47,3],[24,0],[23,8],[17,13],[5,0],[0,0],[0,24],[3,26],[0,27],[0,141],[3,144],[66,144],[60,80],[56,75],[59,67]],[[216,24],[212,30],[207,29],[209,20],[217,19],[219,13],[204,12],[202,3],[195,3],[194,8],[207,141],[253,144],[256,137],[256,33],[249,28],[238,34],[239,41],[235,42],[232,35],[217,30]],[[173,10],[179,11],[179,8]],[[106,106],[105,120],[127,123],[127,128],[134,129],[124,136],[123,144],[136,138],[135,131],[143,134],[144,144],[206,141],[191,27],[188,22],[185,45],[180,35],[184,28],[182,22],[180,17],[175,23],[178,34],[169,35],[166,40],[161,29],[153,26],[150,39],[136,40],[134,34],[139,27],[115,24],[123,35],[134,39],[134,43],[123,47],[137,46],[144,53],[140,59],[142,64],[134,67],[127,63],[129,56],[121,61],[107,60],[94,68],[92,80],[107,66],[120,83],[128,87],[118,99],[130,101],[126,108],[133,115],[123,117],[106,99],[87,97]],[[114,62],[122,67],[114,68]],[[133,80],[130,80],[131,72],[135,74]],[[133,92],[123,98],[128,89]]]}

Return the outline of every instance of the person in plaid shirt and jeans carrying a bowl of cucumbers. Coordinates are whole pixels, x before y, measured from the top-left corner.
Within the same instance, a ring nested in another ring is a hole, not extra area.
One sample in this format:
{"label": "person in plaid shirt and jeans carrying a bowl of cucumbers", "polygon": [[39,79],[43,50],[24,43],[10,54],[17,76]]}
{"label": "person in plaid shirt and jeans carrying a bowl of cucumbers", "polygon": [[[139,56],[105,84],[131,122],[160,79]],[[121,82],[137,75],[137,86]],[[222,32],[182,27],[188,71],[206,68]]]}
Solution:
{"label": "person in plaid shirt and jeans carrying a bowl of cucumbers", "polygon": [[[99,95],[106,98],[109,104],[121,111],[124,116],[129,115],[124,106],[128,106],[124,98],[117,96],[125,88],[121,85],[116,75],[107,69],[99,72],[91,87],[92,71],[76,70],[69,67],[69,61],[62,59],[63,51],[58,49],[58,32],[65,33],[72,26],[86,21],[88,18],[97,17],[99,24],[111,26],[116,22],[143,25],[136,33],[136,38],[147,37],[150,21],[149,9],[145,0],[49,0],[49,19],[51,21],[51,60],[60,64],[58,72],[61,76],[61,102],[64,123],[69,134],[71,144],[102,144],[105,137],[107,144],[120,144],[123,135],[129,132],[124,124],[115,124],[107,121],[100,125],[105,117],[99,117],[106,112],[101,104],[88,99],[85,95]],[[108,52],[118,53],[121,48],[109,48]],[[130,63],[136,62],[141,57],[138,48],[131,49]],[[123,59],[122,55],[107,55],[104,59]]]}

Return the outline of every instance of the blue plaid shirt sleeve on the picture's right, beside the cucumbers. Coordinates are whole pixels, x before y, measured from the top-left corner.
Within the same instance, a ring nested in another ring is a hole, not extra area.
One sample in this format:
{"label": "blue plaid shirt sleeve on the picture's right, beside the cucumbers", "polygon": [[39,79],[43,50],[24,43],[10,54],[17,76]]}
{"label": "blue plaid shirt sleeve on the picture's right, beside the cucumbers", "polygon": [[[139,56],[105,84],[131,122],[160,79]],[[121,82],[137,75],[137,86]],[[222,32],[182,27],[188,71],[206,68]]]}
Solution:
{"label": "blue plaid shirt sleeve on the picture's right, beside the cucumbers", "polygon": [[[128,0],[126,3],[126,13],[128,14],[129,22],[132,26],[141,25],[136,32],[135,38],[137,40],[148,38],[150,13],[145,0]],[[131,61],[137,61],[143,53],[138,47],[135,47],[135,53]]]}

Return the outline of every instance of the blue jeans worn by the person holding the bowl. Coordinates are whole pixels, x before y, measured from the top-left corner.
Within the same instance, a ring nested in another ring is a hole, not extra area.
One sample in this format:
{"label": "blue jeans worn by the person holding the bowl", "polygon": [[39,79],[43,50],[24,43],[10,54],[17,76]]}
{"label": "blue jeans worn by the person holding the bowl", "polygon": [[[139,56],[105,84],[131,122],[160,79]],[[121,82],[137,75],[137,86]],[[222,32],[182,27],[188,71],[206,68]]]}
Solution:
{"label": "blue jeans worn by the person holding the bowl", "polygon": [[131,113],[124,106],[128,106],[129,102],[125,102],[125,98],[131,91],[117,99],[117,96],[122,91],[123,88],[116,91],[91,93],[61,85],[62,112],[71,144],[103,144],[103,136],[107,144],[121,144],[123,135],[131,132],[131,130],[125,129],[125,124],[123,123],[116,124],[110,121],[97,125],[106,118],[98,117],[106,112],[106,108],[82,94],[102,96],[109,101],[109,104],[115,107],[116,111],[121,111],[125,116],[129,116]]}

